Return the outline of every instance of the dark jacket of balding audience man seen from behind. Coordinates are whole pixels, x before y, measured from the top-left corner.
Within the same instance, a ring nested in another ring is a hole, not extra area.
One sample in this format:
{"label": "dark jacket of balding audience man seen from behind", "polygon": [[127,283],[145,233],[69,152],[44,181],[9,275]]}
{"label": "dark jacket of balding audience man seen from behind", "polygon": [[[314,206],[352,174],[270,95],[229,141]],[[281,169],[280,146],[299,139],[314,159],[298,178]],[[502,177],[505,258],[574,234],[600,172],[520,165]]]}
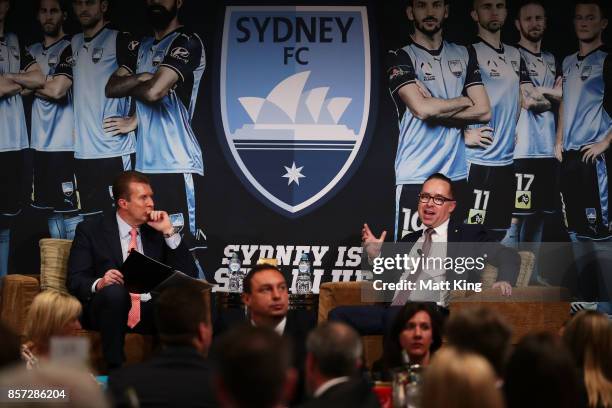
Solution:
{"label": "dark jacket of balding audience man seen from behind", "polygon": [[317,398],[300,408],[379,408],[380,404],[372,388],[361,379],[336,384]]}

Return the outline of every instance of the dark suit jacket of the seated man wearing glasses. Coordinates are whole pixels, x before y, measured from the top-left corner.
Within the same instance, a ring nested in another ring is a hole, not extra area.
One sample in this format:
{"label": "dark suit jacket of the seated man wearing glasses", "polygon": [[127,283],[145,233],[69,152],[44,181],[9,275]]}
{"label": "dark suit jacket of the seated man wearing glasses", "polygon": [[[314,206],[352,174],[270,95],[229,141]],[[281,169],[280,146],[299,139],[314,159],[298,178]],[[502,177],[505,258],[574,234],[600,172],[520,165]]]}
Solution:
{"label": "dark suit jacket of the seated man wearing glasses", "polygon": [[[416,242],[422,235],[423,230],[416,231],[406,235],[400,242]],[[498,281],[506,281],[511,285],[516,283],[521,268],[521,257],[514,249],[493,240],[481,225],[456,223],[451,219],[448,224],[448,243],[461,243],[461,245],[449,245],[447,257],[477,258],[486,254],[486,263],[497,267]],[[451,282],[458,279],[480,282],[480,272],[482,270],[476,269],[464,274],[447,271],[446,279]]]}

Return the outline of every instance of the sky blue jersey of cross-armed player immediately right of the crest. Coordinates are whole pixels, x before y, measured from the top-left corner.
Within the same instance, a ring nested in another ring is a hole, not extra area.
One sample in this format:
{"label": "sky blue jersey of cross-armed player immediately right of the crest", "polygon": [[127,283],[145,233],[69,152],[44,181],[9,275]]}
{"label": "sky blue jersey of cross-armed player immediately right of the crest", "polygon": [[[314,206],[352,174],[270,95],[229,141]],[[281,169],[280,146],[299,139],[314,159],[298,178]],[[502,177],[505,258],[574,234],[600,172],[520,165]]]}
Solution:
{"label": "sky blue jersey of cross-armed player immediately right of the crest", "polygon": [[399,118],[396,184],[420,184],[436,172],[452,180],[465,179],[467,164],[461,129],[417,118],[398,91],[418,79],[433,97],[459,97],[466,88],[482,85],[475,56],[465,47],[445,41],[434,51],[411,43],[391,51],[388,58],[389,92]]}

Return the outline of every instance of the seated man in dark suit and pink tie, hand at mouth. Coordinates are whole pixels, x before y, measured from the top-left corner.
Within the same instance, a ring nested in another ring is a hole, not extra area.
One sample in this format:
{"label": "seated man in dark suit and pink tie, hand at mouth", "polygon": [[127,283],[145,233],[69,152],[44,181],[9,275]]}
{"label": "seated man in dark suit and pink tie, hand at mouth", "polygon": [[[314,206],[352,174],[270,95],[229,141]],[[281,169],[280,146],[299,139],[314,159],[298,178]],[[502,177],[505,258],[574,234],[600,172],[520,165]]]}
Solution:
{"label": "seated man in dark suit and pink tie, hand at mouth", "polygon": [[[68,260],[67,287],[83,304],[83,325],[100,331],[109,369],[124,361],[129,329],[154,332],[151,295],[130,294],[119,271],[128,252],[145,255],[196,277],[196,266],[165,211],[155,211],[148,178],[127,171],[113,183],[115,213],[77,226]],[[146,273],[146,271],[143,271]]]}

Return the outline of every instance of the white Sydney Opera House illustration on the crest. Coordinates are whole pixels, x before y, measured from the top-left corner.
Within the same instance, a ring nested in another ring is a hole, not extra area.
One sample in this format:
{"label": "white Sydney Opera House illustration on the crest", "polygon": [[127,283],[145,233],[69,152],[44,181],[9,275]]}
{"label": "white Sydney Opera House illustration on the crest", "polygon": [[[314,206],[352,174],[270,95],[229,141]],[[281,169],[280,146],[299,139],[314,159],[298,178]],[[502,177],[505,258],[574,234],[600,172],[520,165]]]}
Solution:
{"label": "white Sydney Opera House illustration on the crest", "polygon": [[278,83],[265,98],[238,98],[253,123],[232,135],[240,141],[344,141],[358,138],[338,124],[351,98],[328,98],[329,87],[304,90],[310,71],[293,74]]}

